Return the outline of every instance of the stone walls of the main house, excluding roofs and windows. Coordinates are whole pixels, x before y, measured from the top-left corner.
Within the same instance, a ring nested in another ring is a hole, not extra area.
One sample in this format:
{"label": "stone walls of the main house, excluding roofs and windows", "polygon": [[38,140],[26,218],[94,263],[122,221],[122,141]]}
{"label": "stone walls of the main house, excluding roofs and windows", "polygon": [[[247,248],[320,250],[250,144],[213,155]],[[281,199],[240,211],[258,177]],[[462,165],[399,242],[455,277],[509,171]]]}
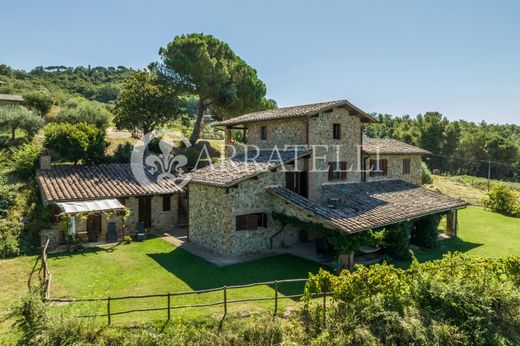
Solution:
{"label": "stone walls of the main house, excluding roofs and windows", "polygon": [[[334,139],[334,124],[340,126],[340,136]],[[361,153],[362,122],[358,116],[350,115],[344,108],[334,108],[316,116],[298,119],[278,119],[247,123],[248,145],[257,145],[260,149],[284,149],[286,145],[308,145],[312,157],[301,159],[299,168],[308,173],[308,198],[318,201],[323,199],[324,187],[335,184],[359,183],[362,181],[361,160],[366,155]],[[262,127],[265,126],[267,138],[262,139]],[[229,137],[229,132],[227,134]],[[367,181],[381,179],[402,179],[420,184],[420,155],[386,155],[388,175],[369,177]],[[402,160],[410,159],[410,174],[403,174]],[[329,181],[329,162],[347,163],[346,179]],[[286,226],[283,232],[281,224],[272,218],[272,212],[287,212],[303,221],[315,219],[306,211],[286,208],[284,202],[266,192],[272,185],[285,186],[285,173],[264,172],[231,187],[213,187],[200,183],[189,183],[189,237],[190,241],[211,248],[225,255],[237,255],[290,245],[298,242],[299,229]],[[267,227],[256,230],[237,230],[236,216],[253,213],[267,213]],[[291,214],[292,213],[292,214]],[[309,239],[322,237],[309,234]]]}

